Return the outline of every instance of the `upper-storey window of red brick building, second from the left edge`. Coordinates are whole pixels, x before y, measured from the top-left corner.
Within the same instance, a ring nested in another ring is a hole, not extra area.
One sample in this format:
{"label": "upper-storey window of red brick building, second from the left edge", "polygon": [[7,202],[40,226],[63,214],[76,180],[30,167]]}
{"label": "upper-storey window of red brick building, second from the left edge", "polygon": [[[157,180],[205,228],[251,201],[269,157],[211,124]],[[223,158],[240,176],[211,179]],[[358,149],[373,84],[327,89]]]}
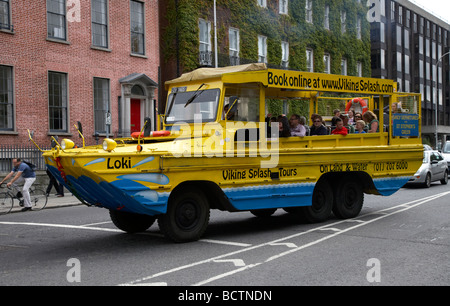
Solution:
{"label": "upper-storey window of red brick building, second from the left edge", "polygon": [[47,0],[47,37],[66,40],[66,0]]}

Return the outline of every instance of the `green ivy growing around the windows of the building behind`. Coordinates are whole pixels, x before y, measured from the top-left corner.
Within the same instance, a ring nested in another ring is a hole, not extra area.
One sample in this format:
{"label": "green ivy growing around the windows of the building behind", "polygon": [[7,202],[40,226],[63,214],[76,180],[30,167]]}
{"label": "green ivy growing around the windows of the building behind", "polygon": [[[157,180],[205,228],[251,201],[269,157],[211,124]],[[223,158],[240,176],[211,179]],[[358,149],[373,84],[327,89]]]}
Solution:
{"label": "green ivy growing around the windows of the building behind", "polygon": [[[330,7],[330,30],[324,28],[326,5]],[[367,7],[356,0],[314,0],[311,24],[305,20],[305,6],[306,0],[289,0],[288,14],[280,15],[278,0],[267,0],[267,8],[259,7],[257,0],[217,0],[219,53],[228,54],[228,29],[233,27],[239,29],[239,56],[242,59],[258,61],[258,35],[264,35],[267,37],[269,65],[281,64],[281,42],[287,41],[290,69],[305,71],[306,49],[311,48],[314,50],[315,72],[324,71],[323,56],[328,53],[331,73],[341,74],[341,59],[346,58],[348,75],[356,75],[359,61],[363,65],[363,76],[370,77],[370,24],[365,18]],[[341,10],[346,11],[344,34],[341,33]],[[165,62],[178,57],[181,72],[198,68],[198,21],[202,18],[211,22],[211,42],[214,44],[213,16],[213,0],[167,0],[168,26],[162,29]],[[361,39],[356,36],[358,17],[361,19]],[[279,106],[275,106],[277,103],[272,104],[274,110],[280,111],[277,109]],[[300,103],[291,104],[295,104],[289,107],[291,113],[302,111],[298,106]]]}

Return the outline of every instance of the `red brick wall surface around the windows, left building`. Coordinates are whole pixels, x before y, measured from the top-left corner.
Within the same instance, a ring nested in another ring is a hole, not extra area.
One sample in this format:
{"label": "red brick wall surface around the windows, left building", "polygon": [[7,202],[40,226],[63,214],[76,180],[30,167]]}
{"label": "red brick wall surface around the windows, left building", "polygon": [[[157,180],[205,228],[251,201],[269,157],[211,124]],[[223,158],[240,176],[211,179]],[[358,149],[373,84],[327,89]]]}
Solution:
{"label": "red brick wall surface around the windows, left building", "polygon": [[[87,142],[95,143],[94,77],[110,79],[112,130],[117,130],[121,96],[118,80],[132,73],[145,73],[158,81],[158,1],[141,2],[145,3],[145,58],[131,55],[129,0],[109,1],[110,51],[91,48],[91,0],[79,0],[80,22],[68,22],[67,43],[47,39],[46,1],[10,1],[14,32],[0,31],[0,65],[13,67],[15,131],[0,131],[0,141],[24,143],[30,129],[35,131],[38,143],[50,143],[49,71],[68,76],[69,134],[78,138],[73,125],[81,121]],[[68,11],[71,9],[74,7]]]}

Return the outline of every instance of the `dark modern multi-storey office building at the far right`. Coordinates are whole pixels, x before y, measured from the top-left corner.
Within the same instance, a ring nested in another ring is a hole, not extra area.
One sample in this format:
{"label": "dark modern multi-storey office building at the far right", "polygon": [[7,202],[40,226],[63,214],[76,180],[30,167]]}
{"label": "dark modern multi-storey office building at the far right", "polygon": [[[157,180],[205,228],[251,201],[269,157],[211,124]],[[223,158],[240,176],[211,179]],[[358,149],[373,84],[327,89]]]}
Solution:
{"label": "dark modern multi-storey office building at the far right", "polygon": [[435,145],[450,135],[450,25],[407,0],[381,0],[371,24],[372,75],[422,94],[422,134]]}

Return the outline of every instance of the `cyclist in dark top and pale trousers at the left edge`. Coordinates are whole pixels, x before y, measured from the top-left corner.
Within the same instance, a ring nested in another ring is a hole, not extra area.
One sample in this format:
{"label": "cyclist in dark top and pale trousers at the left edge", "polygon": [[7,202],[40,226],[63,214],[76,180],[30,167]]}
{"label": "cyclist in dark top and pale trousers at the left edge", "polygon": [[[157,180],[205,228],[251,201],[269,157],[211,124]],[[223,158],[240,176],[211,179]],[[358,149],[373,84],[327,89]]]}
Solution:
{"label": "cyclist in dark top and pale trousers at the left edge", "polygon": [[6,185],[7,187],[13,187],[15,190],[20,191],[19,186],[22,185],[22,195],[24,199],[24,208],[22,211],[31,210],[31,198],[30,198],[30,187],[36,180],[36,173],[30,168],[25,162],[20,158],[13,159],[13,169],[11,172],[0,182],[9,180],[11,177],[13,179]]}

